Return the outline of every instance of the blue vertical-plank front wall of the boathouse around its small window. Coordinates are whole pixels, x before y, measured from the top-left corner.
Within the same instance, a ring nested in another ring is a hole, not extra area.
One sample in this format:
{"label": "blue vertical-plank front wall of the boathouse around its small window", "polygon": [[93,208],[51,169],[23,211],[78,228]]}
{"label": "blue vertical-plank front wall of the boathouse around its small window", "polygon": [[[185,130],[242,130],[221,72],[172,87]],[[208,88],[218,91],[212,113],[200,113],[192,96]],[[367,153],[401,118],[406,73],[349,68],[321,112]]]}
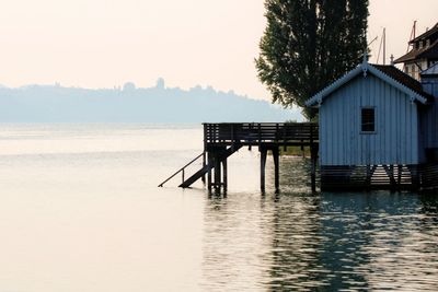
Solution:
{"label": "blue vertical-plank front wall of the boathouse around its small window", "polygon": [[[360,109],[376,108],[376,133],[361,133]],[[327,96],[320,108],[321,165],[418,164],[417,105],[368,74]]]}

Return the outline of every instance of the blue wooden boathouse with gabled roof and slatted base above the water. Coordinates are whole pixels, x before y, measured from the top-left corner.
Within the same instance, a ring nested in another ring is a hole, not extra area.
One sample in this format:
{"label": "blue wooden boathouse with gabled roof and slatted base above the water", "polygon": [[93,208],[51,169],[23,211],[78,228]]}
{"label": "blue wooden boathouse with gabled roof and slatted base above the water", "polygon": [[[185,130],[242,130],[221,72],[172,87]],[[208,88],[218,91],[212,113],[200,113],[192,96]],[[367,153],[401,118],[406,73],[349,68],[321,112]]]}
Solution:
{"label": "blue wooden boathouse with gabled roof and slatted base above the water", "polygon": [[[422,75],[428,84],[429,72]],[[364,60],[311,97],[307,105],[320,119],[321,188],[437,187],[436,94],[394,66]]]}

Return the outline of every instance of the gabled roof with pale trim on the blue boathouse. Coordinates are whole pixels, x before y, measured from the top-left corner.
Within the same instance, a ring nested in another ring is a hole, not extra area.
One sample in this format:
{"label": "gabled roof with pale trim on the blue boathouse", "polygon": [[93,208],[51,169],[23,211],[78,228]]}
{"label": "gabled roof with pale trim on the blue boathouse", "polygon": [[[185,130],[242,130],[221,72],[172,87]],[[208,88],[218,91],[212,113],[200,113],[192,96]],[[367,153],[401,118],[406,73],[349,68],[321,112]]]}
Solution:
{"label": "gabled roof with pale trim on the blue boathouse", "polygon": [[430,94],[422,90],[422,84],[418,81],[400,71],[395,67],[371,65],[367,61],[364,61],[361,65],[349,71],[347,74],[336,80],[331,85],[309,98],[306,102],[306,105],[314,106],[316,104],[321,104],[325,97],[327,97],[339,87],[344,86],[357,75],[364,74],[365,77],[367,77],[368,73],[373,74],[378,79],[383,80],[393,87],[404,92],[405,94],[411,96],[412,101],[417,101],[422,104],[426,104],[428,101],[431,101],[431,98],[434,98]]}

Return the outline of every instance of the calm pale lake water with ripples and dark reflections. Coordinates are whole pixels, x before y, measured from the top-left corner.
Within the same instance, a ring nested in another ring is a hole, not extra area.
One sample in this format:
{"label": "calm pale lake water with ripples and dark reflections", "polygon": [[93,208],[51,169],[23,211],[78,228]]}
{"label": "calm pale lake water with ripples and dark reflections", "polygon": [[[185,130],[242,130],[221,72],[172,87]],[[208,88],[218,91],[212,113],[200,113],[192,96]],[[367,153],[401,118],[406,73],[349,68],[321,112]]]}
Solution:
{"label": "calm pale lake water with ripples and dark reflections", "polygon": [[[437,291],[438,195],[312,195],[281,157],[229,160],[228,196],[181,177],[198,125],[0,125],[0,291]],[[192,172],[199,167],[198,163]]]}

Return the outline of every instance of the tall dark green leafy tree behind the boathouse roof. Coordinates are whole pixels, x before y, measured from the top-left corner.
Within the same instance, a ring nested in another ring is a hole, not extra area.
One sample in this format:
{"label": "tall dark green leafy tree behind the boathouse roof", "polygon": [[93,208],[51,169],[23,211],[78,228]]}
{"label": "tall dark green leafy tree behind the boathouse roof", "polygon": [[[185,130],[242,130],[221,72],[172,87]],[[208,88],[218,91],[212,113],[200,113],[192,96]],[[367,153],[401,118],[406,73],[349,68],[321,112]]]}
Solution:
{"label": "tall dark green leafy tree behind the boathouse roof", "polygon": [[266,0],[255,60],[260,80],[285,107],[304,102],[358,65],[367,47],[368,0]]}

